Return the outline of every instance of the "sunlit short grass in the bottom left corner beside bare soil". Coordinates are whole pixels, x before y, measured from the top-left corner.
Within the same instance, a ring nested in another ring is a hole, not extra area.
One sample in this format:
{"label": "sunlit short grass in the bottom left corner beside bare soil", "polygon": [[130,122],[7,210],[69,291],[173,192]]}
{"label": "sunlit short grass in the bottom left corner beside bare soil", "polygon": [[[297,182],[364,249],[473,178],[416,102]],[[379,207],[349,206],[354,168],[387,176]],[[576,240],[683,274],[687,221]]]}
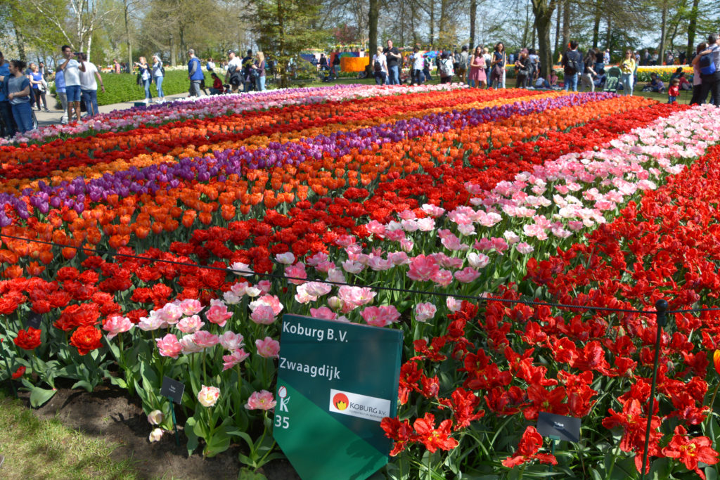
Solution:
{"label": "sunlit short grass in the bottom left corner beside bare soil", "polygon": [[136,479],[132,461],[113,461],[114,445],[72,430],[57,418],[38,420],[0,390],[0,478]]}

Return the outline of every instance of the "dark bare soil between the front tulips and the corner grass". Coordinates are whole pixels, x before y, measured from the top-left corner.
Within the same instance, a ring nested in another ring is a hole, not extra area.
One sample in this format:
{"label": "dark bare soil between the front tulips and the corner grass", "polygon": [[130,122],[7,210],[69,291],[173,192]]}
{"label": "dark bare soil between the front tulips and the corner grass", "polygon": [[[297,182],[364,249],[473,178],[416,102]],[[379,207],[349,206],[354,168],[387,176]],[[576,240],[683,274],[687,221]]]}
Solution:
{"label": "dark bare soil between the front tulips and the corner grass", "polygon": [[[21,393],[19,397],[30,408],[30,395]],[[238,479],[243,469],[238,461],[239,445],[231,445],[214,458],[203,459],[199,453],[188,457],[181,426],[180,446],[175,445],[175,437],[169,433],[159,442],[150,443],[152,428],[140,400],[127,397],[127,392],[116,386],[99,386],[92,393],[58,388],[48,403],[33,412],[40,419],[57,416],[68,427],[118,445],[111,457],[116,461],[132,459],[140,479]],[[258,473],[268,480],[300,479],[286,460],[272,461]]]}

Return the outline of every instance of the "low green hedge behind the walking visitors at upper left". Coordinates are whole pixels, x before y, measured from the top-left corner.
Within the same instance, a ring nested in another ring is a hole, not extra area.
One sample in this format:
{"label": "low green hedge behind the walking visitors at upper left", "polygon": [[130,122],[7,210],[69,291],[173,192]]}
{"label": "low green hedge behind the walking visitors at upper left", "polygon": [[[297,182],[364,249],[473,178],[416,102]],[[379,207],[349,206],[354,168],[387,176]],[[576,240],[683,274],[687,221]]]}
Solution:
{"label": "low green hedge behind the walking visitors at upper left", "polygon": [[[205,73],[205,85],[208,89],[212,85],[212,77],[209,72]],[[120,104],[125,101],[145,99],[145,89],[135,83],[133,73],[104,73],[102,81],[105,84],[105,91],[97,91],[97,103],[99,105]],[[222,76],[220,77],[222,80]],[[186,70],[166,71],[163,79],[163,93],[166,95],[182,94],[188,91],[190,81],[187,79]],[[155,83],[150,85],[150,93],[153,99],[157,96]]]}

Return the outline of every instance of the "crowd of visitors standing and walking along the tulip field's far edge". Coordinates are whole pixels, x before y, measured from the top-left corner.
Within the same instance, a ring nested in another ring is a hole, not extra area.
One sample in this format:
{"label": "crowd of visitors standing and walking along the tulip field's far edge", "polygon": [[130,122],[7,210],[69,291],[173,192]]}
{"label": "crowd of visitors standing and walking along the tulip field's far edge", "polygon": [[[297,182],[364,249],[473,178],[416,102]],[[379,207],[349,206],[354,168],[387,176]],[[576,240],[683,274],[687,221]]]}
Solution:
{"label": "crowd of visitors standing and walking along the tulip field's far edge", "polygon": [[[55,91],[58,101],[63,107],[61,123],[81,119],[81,103],[87,115],[92,117],[98,114],[97,89],[104,91],[104,83],[98,68],[87,60],[81,52],[73,52],[68,45],[60,47],[62,52],[61,63],[58,63],[53,73],[42,62],[26,63],[22,60],[6,61],[0,53],[0,119],[4,124],[4,135],[12,136],[16,132],[32,130],[33,109],[48,111],[48,81],[55,81]],[[193,49],[187,51],[189,61],[187,74],[189,81],[189,95],[199,96],[200,92],[208,95],[205,86],[205,74],[202,60],[197,58]],[[212,87],[210,95],[223,93],[236,93],[242,89],[248,91],[264,91],[266,88],[266,75],[274,71],[274,64],[266,62],[263,52],[253,55],[247,50],[243,58],[239,58],[234,50],[228,50],[228,60],[216,65],[212,58],[204,60],[204,68],[210,72]],[[667,63],[685,62],[685,55],[680,53],[677,57],[668,53]],[[677,60],[677,62],[676,62]],[[708,36],[707,42],[701,42],[696,53],[688,59],[693,67],[693,78],[689,81],[682,67],[678,67],[670,76],[667,88],[668,102],[677,101],[680,91],[692,90],[690,104],[702,104],[710,97],[710,102],[720,107],[720,42],[717,34]],[[435,52],[420,52],[418,47],[407,55],[387,40],[385,47],[377,47],[370,61],[370,68],[378,85],[398,85],[410,83],[420,85],[431,81],[431,71],[437,68],[441,83],[451,83],[454,78],[466,82],[474,88],[505,88],[508,70],[515,73],[516,88],[560,89],[558,75],[554,68],[550,68],[548,75],[540,75],[540,57],[533,49],[523,48],[516,53],[505,51],[503,42],[498,42],[492,48],[474,47],[470,53],[467,46],[459,51],[441,50]],[[610,50],[590,48],[586,53],[578,49],[575,40],[571,41],[567,50],[559,58],[559,66],[563,73],[563,87],[566,91],[577,91],[603,88],[608,81],[606,66],[611,61]],[[639,65],[657,64],[657,53],[644,50],[641,54],[633,50],[626,50],[618,62],[618,85],[625,95],[632,95],[637,82],[637,69]],[[327,78],[338,78],[340,55],[331,56],[320,54],[316,67],[318,71],[325,72]],[[134,67],[137,71],[137,83],[145,90],[145,103],[153,101],[150,86],[156,86],[157,101],[164,101],[163,79],[165,67],[161,55],[152,55],[151,61],[141,56]],[[122,73],[129,71],[128,65],[113,60],[112,72]],[[408,74],[404,74],[408,71]],[[644,91],[665,93],[665,83],[657,73],[653,73],[649,83],[643,87]]]}

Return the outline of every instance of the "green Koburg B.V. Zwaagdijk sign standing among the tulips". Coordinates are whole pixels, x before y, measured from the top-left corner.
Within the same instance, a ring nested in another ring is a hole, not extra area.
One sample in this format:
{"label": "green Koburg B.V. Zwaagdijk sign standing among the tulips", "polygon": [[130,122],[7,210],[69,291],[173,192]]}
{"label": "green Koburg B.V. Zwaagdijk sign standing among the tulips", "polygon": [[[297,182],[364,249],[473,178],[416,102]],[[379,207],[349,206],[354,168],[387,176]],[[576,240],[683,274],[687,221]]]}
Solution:
{"label": "green Koburg B.V. Zwaagdijk sign standing among the tulips", "polygon": [[402,332],[287,314],[273,436],[303,480],[364,480],[388,460]]}

